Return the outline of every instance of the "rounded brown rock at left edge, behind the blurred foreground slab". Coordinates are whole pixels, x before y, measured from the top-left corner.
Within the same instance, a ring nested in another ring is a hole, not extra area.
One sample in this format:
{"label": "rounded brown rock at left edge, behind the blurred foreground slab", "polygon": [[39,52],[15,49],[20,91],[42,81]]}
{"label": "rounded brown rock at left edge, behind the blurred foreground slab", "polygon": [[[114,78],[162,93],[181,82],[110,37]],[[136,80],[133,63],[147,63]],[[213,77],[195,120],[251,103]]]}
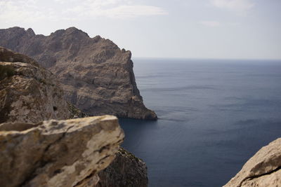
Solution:
{"label": "rounded brown rock at left edge, behind the blurred foreground slab", "polygon": [[70,118],[55,77],[30,57],[0,47],[0,123]]}

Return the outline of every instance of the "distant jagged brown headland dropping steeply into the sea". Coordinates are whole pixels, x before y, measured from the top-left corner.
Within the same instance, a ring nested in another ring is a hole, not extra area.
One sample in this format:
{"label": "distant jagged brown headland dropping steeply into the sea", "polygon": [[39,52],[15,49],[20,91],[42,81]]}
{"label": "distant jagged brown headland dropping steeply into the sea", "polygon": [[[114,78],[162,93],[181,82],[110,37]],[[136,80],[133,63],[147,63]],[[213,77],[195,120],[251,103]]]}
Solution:
{"label": "distant jagged brown headland dropping steeply into the sea", "polygon": [[0,29],[0,46],[34,57],[56,74],[66,98],[90,115],[157,119],[136,86],[131,52],[100,36],[71,27],[50,36],[32,29]]}

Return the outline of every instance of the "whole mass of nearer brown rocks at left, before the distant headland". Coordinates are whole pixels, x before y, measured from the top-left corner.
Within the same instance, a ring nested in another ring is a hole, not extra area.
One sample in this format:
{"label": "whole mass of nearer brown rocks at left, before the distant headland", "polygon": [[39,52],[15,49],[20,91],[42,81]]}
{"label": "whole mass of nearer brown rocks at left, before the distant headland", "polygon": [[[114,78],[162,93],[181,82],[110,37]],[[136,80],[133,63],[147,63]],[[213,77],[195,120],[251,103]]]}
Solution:
{"label": "whole mass of nearer brown rocks at left, before the distant headland", "polygon": [[1,186],[148,186],[117,118],[83,118],[64,98],[50,71],[0,47]]}

